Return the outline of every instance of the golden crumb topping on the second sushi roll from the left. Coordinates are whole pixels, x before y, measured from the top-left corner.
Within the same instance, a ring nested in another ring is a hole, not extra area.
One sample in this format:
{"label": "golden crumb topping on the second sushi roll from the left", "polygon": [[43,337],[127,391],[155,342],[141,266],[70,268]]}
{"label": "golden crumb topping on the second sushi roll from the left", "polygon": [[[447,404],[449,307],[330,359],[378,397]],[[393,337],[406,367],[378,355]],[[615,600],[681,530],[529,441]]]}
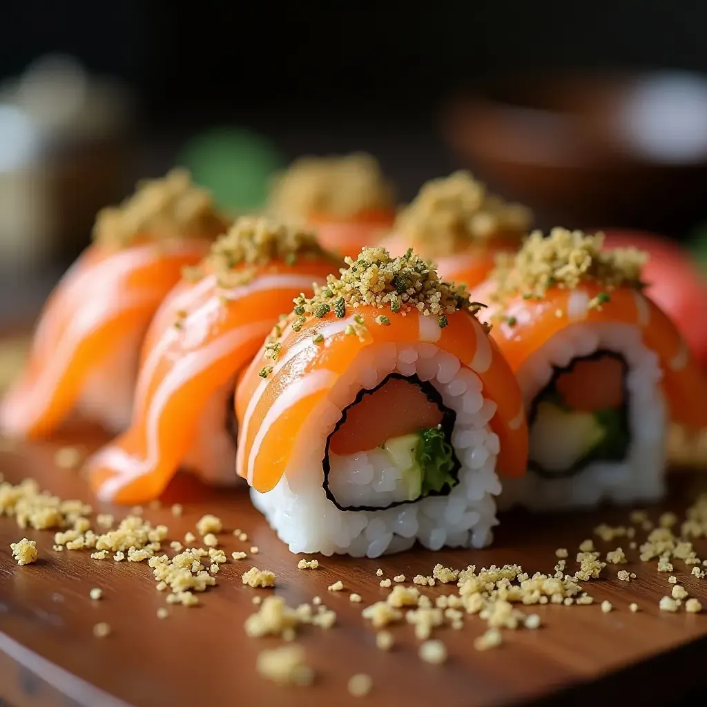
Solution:
{"label": "golden crumb topping on the second sushi roll from the left", "polygon": [[[300,257],[327,257],[313,231],[263,216],[243,216],[211,246],[206,266],[221,287],[232,288],[250,282],[258,265],[273,260],[294,264]],[[185,276],[196,280],[204,271],[203,265],[188,268]]]}

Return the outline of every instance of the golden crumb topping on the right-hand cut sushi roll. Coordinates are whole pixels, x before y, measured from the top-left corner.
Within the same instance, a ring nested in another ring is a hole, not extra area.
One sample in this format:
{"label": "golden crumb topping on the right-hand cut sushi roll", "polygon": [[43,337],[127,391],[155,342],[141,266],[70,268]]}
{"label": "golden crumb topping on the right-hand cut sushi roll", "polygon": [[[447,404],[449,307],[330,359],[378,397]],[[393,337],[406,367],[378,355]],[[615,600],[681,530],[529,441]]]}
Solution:
{"label": "golden crumb topping on the right-hand cut sushi roll", "polygon": [[[545,296],[548,288],[574,289],[591,282],[612,289],[641,288],[641,268],[646,255],[635,248],[602,250],[604,235],[553,228],[547,238],[539,230],[525,239],[515,255],[500,254],[491,278],[498,286],[495,297],[504,300],[522,294],[524,298]],[[591,305],[601,307],[611,295],[599,293]]]}

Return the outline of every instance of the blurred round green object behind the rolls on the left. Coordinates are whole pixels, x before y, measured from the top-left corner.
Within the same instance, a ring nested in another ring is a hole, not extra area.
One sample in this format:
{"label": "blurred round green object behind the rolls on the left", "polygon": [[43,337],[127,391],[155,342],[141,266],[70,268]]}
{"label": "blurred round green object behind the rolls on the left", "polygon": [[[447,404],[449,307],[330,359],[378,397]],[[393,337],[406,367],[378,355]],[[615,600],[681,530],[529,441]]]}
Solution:
{"label": "blurred round green object behind the rolls on the left", "polygon": [[178,160],[194,181],[211,189],[221,209],[236,213],[264,206],[270,179],[285,162],[272,141],[238,127],[217,127],[197,135]]}

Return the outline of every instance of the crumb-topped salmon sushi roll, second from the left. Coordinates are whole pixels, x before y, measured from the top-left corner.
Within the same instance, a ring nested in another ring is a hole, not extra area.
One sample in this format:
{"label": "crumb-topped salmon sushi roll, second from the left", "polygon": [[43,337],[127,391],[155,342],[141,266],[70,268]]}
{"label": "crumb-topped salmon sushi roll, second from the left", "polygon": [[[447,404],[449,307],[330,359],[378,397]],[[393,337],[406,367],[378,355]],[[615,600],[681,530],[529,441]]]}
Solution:
{"label": "crumb-topped salmon sushi roll, second from the left", "polygon": [[322,283],[340,264],[309,231],[238,219],[155,315],[131,426],[88,461],[97,496],[149,501],[180,466],[213,484],[233,483],[235,380],[264,337],[279,331],[293,298],[311,293],[312,281]]}

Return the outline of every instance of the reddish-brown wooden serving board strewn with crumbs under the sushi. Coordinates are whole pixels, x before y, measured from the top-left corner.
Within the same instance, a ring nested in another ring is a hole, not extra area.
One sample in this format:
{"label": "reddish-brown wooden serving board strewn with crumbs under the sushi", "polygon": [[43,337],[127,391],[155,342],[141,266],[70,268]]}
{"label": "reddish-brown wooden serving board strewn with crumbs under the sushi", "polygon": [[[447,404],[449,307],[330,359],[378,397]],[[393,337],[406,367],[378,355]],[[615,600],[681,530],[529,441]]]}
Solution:
{"label": "reddish-brown wooden serving board strewn with crumbs under the sushi", "polygon": [[[62,498],[90,501],[80,472],[57,468],[53,455],[62,444],[78,443],[90,450],[102,440],[95,431],[83,431],[54,443],[21,445],[0,452],[0,471],[9,481],[34,477],[42,488]],[[684,509],[694,498],[695,483],[691,477],[676,477],[667,507]],[[184,505],[182,518],[170,513],[170,505],[177,501]],[[95,508],[125,512],[101,504]],[[659,512],[651,509],[654,518]],[[584,583],[595,604],[522,607],[539,614],[542,627],[503,631],[499,648],[484,653],[474,649],[474,638],[486,629],[478,616],[465,617],[462,631],[436,630],[434,637],[448,647],[445,665],[419,660],[419,642],[413,627],[405,623],[390,627],[395,648],[389,653],[378,650],[370,622],[361,618],[363,607],[385,599],[389,592],[379,587],[375,575],[379,567],[385,577],[403,573],[408,583],[418,573],[430,574],[437,562],[455,568],[469,563],[477,567],[520,563],[531,574],[551,573],[555,549],[566,547],[568,571],[573,572],[574,554],[586,537],[595,539],[602,555],[621,544],[601,542],[592,536],[592,528],[599,522],[626,523],[626,509],[549,516],[513,513],[502,518],[489,549],[437,553],[419,549],[375,560],[320,557],[321,566],[315,571],[296,568],[300,557],[279,542],[250,505],[244,489],[215,491],[191,477],[177,477],[163,497],[163,508],[146,508],[144,515],[153,524],[168,525],[170,539],[182,540],[204,513],[223,519],[225,529],[219,537],[228,563],[216,575],[216,587],[199,595],[199,606],[169,607],[167,619],[156,616],[157,609],[166,606],[165,593],[156,591],[147,563],[97,561],[85,551],[53,551],[52,532],[21,530],[12,518],[0,518],[0,704],[346,705],[362,702],[346,689],[349,677],[358,672],[373,678],[373,689],[363,701],[374,706],[439,702],[452,707],[567,699],[588,703],[623,694],[630,694],[634,704],[666,696],[675,703],[681,691],[696,688],[703,679],[700,658],[706,653],[707,616],[682,610],[660,612],[660,597],[670,594],[668,575],[658,573],[655,561],[637,561],[635,550],[628,551],[628,565],[609,565],[600,580]],[[233,537],[235,527],[247,532],[247,542]],[[40,559],[35,564],[18,566],[11,557],[10,543],[23,536],[37,541]],[[641,537],[636,539],[640,542]],[[256,556],[230,559],[232,551],[248,551],[253,544],[259,548]],[[625,539],[623,546],[626,549]],[[707,542],[696,547],[707,556]],[[275,590],[243,585],[241,574],[254,564],[276,573]],[[631,583],[619,582],[619,569],[638,576]],[[676,563],[674,574],[707,607],[707,579],[694,578],[682,563]],[[327,586],[339,579],[346,590],[327,592]],[[94,587],[103,589],[98,602],[89,598]],[[434,598],[455,588],[436,585],[421,590]],[[338,614],[337,625],[328,631],[313,626],[298,631],[307,662],[316,670],[312,686],[279,686],[255,672],[259,650],[281,641],[247,638],[243,622],[257,608],[252,597],[272,591],[292,606],[320,595]],[[362,604],[350,602],[352,591],[363,597]],[[602,600],[612,602],[614,610],[602,613]],[[641,611],[631,613],[631,602],[638,603]],[[99,621],[112,626],[107,638],[93,636]]]}

